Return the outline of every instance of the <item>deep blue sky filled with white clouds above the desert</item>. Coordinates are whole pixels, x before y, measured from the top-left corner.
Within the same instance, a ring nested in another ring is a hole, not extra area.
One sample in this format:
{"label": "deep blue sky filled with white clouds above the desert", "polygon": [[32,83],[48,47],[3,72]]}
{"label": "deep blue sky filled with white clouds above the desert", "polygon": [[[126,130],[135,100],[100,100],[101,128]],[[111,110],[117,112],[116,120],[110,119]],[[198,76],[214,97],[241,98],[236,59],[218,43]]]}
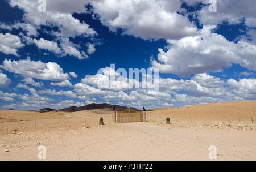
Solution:
{"label": "deep blue sky filled with white clouds above the desert", "polygon": [[[255,6],[232,2],[1,1],[0,109],[255,100]],[[159,68],[159,91],[98,88],[112,63]]]}

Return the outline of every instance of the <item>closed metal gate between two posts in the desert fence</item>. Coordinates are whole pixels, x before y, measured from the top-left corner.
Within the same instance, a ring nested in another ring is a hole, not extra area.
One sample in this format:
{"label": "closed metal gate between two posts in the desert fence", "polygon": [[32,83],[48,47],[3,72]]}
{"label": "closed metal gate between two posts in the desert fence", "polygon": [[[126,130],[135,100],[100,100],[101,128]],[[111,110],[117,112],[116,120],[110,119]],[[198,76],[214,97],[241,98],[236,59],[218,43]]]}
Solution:
{"label": "closed metal gate between two posts in the desert fence", "polygon": [[117,111],[116,121],[117,122],[143,122],[143,114],[142,114],[142,111],[137,111],[133,113]]}

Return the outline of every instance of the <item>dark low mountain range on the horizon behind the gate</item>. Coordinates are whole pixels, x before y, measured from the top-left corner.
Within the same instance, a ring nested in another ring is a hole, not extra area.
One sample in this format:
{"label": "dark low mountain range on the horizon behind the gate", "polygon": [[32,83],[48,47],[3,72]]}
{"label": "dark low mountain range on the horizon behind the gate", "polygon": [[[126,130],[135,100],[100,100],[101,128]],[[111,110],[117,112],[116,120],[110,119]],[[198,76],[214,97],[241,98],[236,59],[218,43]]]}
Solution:
{"label": "dark low mountain range on the horizon behind the gate", "polygon": [[[39,111],[44,113],[44,112],[49,112],[49,111],[65,111],[65,112],[73,112],[73,111],[81,111],[81,110],[92,110],[92,109],[113,109],[115,107],[115,110],[125,110],[127,109],[126,106],[120,106],[120,105],[110,105],[110,104],[88,104],[85,106],[77,107],[77,106],[71,106],[69,108],[65,109],[51,109],[51,108],[44,108],[40,109]],[[132,111],[138,111],[136,108],[131,108]]]}

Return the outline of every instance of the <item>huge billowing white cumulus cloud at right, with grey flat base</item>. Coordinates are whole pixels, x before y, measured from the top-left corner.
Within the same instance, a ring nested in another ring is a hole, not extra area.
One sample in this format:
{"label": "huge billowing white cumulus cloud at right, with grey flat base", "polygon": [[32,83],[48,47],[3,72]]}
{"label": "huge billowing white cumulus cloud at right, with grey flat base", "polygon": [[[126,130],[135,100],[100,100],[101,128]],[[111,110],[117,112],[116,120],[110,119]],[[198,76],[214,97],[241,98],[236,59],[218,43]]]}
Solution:
{"label": "huge billowing white cumulus cloud at right, with grey flat base", "polygon": [[244,41],[237,44],[230,42],[222,35],[212,33],[213,28],[204,26],[200,35],[168,40],[168,50],[159,49],[158,61],[153,59],[152,67],[183,77],[219,72],[232,66],[232,63],[256,70],[255,45]]}

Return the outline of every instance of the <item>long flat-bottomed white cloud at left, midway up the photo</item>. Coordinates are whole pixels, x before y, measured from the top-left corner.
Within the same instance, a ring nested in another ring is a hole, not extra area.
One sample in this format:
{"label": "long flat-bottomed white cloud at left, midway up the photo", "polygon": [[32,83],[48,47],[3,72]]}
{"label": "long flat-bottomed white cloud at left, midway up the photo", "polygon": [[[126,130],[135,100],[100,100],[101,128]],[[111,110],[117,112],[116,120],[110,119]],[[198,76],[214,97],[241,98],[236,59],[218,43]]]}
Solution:
{"label": "long flat-bottomed white cloud at left, midway up the photo", "polygon": [[63,81],[68,80],[69,75],[63,72],[63,69],[55,62],[44,63],[41,61],[31,61],[23,59],[19,61],[11,61],[5,59],[1,68],[23,75],[24,78],[35,78],[42,80]]}

